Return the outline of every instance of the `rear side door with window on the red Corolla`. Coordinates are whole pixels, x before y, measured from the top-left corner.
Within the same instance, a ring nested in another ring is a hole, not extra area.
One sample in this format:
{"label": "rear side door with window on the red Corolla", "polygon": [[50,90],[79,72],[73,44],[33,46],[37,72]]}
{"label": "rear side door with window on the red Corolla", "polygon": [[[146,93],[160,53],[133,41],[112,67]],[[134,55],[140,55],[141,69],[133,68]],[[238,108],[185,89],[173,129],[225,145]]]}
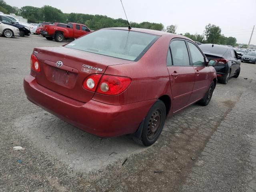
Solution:
{"label": "rear side door with window on the red Corolla", "polygon": [[172,110],[177,112],[188,105],[194,81],[195,70],[190,65],[188,48],[184,39],[174,39],[168,50],[167,68],[172,89]]}

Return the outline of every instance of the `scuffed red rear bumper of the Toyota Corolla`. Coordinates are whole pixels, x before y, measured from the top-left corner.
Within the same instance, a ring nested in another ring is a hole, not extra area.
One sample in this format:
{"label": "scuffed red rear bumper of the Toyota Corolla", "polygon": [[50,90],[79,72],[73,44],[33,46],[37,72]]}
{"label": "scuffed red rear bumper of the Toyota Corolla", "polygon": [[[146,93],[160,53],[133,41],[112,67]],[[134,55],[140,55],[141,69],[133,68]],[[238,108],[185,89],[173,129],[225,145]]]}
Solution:
{"label": "scuffed red rear bumper of the Toyota Corolla", "polygon": [[28,75],[23,82],[28,100],[62,120],[100,137],[136,132],[156,100],[126,105],[109,105],[94,100],[83,103],[49,90]]}

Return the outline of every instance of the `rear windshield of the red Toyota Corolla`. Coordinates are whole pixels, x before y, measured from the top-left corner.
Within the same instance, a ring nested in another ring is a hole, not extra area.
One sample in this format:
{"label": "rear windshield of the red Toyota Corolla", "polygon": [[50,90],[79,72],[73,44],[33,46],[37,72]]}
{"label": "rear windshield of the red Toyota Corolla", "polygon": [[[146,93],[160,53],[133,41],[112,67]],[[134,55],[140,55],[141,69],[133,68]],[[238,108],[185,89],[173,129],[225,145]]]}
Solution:
{"label": "rear windshield of the red Toyota Corolla", "polygon": [[137,61],[158,38],[159,36],[142,32],[101,29],[74,40],[66,47]]}

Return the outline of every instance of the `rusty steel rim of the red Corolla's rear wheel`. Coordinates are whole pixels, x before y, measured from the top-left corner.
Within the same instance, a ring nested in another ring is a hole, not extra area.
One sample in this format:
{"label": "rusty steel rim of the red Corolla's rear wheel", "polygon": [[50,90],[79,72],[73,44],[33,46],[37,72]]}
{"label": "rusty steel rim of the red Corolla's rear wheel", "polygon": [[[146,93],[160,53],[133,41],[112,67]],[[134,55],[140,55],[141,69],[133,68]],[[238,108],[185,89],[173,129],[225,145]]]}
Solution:
{"label": "rusty steel rim of the red Corolla's rear wheel", "polygon": [[153,140],[160,130],[162,122],[162,111],[160,109],[155,110],[148,122],[147,137],[149,140]]}

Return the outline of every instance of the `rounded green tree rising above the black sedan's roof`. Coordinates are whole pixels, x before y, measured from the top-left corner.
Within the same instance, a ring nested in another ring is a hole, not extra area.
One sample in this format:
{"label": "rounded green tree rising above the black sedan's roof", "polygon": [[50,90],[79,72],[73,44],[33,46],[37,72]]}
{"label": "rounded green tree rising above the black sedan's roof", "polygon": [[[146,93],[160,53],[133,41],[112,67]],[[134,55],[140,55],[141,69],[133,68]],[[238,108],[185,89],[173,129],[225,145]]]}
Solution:
{"label": "rounded green tree rising above the black sedan's roof", "polygon": [[221,29],[219,26],[208,24],[205,27],[204,34],[206,36],[207,43],[219,44]]}

